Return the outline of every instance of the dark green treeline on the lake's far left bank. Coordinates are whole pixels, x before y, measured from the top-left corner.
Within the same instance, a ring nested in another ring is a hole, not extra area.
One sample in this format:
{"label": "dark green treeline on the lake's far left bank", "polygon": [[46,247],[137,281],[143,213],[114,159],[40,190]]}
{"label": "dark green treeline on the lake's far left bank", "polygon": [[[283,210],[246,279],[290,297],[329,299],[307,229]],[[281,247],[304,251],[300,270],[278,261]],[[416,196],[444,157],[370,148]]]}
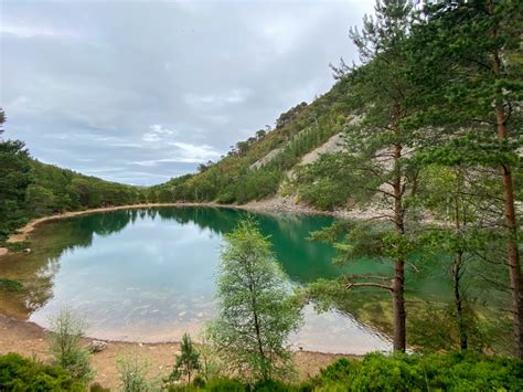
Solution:
{"label": "dark green treeline on the lake's far left bank", "polygon": [[[0,126],[4,121],[0,108]],[[33,218],[148,200],[146,188],[42,163],[31,158],[22,141],[0,140],[0,243]]]}

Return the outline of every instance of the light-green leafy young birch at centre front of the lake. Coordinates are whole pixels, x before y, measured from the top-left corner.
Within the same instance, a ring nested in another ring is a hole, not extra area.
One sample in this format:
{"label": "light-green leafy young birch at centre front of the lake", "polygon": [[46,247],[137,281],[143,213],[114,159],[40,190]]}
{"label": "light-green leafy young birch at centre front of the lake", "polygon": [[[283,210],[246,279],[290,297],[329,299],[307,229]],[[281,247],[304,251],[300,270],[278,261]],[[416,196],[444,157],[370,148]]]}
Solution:
{"label": "light-green leafy young birch at centre front of the lake", "polygon": [[230,369],[246,379],[285,377],[291,367],[288,337],[301,319],[286,276],[252,220],[242,221],[225,240],[218,316],[210,337]]}

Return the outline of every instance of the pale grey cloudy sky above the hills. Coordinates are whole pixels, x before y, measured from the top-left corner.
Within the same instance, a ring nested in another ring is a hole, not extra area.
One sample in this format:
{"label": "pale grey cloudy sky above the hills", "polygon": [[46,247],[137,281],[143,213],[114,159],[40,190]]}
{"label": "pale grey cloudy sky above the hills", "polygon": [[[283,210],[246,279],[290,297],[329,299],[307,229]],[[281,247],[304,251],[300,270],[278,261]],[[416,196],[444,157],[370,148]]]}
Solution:
{"label": "pale grey cloudy sky above the hills", "polygon": [[194,172],[328,92],[373,4],[0,0],[4,137],[110,181]]}

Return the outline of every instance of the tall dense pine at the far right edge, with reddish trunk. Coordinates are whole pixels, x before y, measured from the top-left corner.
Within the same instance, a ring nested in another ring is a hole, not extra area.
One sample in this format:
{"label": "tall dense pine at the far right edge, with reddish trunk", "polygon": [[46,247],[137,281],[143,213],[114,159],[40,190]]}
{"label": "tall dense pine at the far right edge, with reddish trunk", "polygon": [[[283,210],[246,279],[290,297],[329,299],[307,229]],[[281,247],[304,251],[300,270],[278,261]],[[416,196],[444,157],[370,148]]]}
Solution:
{"label": "tall dense pine at the far right edge, with reddish trunk", "polygon": [[419,87],[418,110],[407,121],[430,129],[428,160],[500,172],[517,357],[523,357],[523,283],[512,170],[521,165],[522,9],[511,0],[427,6],[413,41],[417,67],[409,74]]}

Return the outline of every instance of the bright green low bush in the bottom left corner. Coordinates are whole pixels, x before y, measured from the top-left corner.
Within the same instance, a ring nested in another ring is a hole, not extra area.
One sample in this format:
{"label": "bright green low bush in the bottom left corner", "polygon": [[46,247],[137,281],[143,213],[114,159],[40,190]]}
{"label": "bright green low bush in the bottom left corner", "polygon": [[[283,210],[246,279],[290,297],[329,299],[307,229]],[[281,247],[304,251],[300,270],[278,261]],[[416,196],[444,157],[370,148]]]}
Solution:
{"label": "bright green low bush in the bottom left corner", "polygon": [[0,390],[84,391],[85,388],[60,367],[8,353],[0,357]]}

